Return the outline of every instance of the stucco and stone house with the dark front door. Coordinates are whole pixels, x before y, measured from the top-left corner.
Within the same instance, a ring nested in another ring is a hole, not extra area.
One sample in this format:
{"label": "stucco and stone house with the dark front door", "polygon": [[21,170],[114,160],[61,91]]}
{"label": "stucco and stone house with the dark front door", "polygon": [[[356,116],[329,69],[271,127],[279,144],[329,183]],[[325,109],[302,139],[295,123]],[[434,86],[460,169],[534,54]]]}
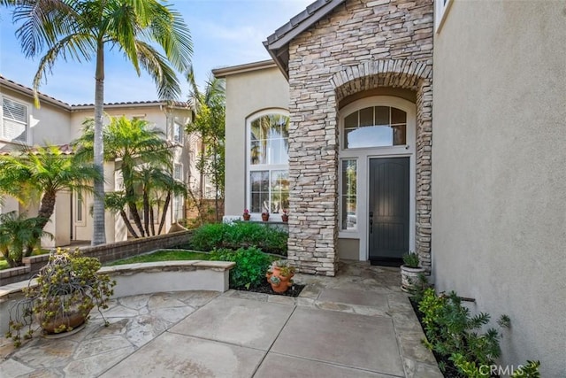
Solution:
{"label": "stucco and stone house with the dark front door", "polygon": [[303,273],[415,251],[437,289],[509,315],[501,364],[540,359],[543,376],[562,376],[564,9],[311,4],[267,37],[272,60],[214,71],[226,78],[226,216],[288,208]]}

